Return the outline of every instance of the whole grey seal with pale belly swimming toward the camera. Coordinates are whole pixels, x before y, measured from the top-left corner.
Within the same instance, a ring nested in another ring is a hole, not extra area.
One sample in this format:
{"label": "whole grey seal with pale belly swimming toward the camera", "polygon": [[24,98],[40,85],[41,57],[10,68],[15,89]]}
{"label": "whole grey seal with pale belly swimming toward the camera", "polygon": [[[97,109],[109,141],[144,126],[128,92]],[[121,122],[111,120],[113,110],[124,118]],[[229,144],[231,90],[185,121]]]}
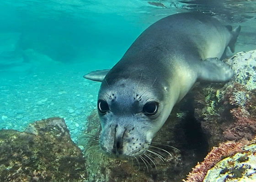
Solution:
{"label": "whole grey seal with pale belly swimming toward the camera", "polygon": [[100,146],[114,157],[147,151],[173,106],[197,80],[228,81],[233,71],[219,59],[234,52],[240,26],[182,13],[149,26],[111,70],[84,77],[102,81],[98,111]]}

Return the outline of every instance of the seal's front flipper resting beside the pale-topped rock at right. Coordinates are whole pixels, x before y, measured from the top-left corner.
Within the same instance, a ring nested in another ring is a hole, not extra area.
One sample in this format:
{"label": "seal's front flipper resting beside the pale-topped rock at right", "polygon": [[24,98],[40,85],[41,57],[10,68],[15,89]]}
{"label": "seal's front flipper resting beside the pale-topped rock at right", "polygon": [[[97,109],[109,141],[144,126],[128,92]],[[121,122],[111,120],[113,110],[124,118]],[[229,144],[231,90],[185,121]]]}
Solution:
{"label": "seal's front flipper resting beside the pale-topped rock at right", "polygon": [[228,81],[233,75],[233,70],[217,58],[201,61],[197,69],[197,78],[204,81]]}

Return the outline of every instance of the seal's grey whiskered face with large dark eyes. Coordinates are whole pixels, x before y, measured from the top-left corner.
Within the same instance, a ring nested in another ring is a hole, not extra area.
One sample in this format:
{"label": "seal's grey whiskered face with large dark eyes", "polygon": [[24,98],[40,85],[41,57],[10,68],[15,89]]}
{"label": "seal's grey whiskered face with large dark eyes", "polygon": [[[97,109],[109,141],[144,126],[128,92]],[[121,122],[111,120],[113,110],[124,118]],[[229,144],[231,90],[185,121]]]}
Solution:
{"label": "seal's grey whiskered face with large dark eyes", "polygon": [[152,88],[133,82],[101,85],[97,107],[102,129],[99,144],[111,157],[127,158],[146,152],[162,126],[161,99]]}

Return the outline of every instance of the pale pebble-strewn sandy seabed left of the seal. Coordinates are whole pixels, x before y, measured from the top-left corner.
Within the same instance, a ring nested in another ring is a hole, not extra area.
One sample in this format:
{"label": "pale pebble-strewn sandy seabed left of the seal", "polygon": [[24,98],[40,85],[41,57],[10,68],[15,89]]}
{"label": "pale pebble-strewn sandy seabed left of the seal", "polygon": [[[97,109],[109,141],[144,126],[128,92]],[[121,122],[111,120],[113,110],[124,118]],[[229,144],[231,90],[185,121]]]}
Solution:
{"label": "pale pebble-strewn sandy seabed left of the seal", "polygon": [[42,67],[0,73],[0,129],[23,131],[28,123],[59,116],[76,142],[96,108],[100,83],[83,78],[86,65]]}

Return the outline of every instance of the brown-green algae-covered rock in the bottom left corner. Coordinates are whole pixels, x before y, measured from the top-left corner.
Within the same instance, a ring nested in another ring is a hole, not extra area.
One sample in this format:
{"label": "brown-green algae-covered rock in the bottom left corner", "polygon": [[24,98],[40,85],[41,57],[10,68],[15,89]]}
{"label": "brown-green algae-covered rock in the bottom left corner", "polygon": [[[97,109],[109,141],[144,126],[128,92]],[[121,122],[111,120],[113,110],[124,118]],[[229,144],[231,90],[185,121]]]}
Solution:
{"label": "brown-green algae-covered rock in the bottom left corner", "polygon": [[85,159],[58,117],[0,130],[0,182],[85,182]]}

